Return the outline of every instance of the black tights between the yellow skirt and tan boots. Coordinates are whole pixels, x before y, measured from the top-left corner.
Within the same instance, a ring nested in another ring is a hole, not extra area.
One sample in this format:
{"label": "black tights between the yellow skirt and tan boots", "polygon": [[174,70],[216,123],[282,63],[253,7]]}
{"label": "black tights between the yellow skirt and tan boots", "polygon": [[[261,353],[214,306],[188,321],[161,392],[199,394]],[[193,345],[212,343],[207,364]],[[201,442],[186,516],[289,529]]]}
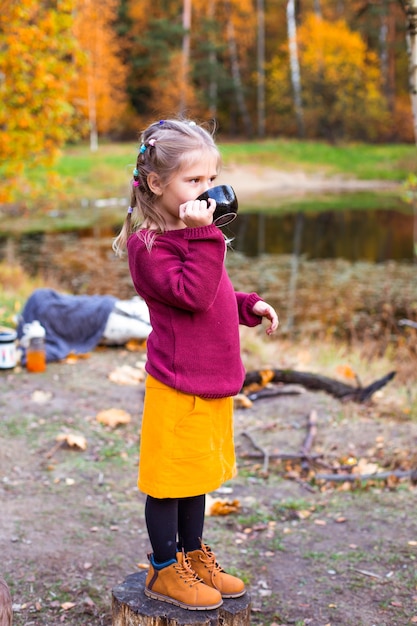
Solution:
{"label": "black tights between the yellow skirt and tan boots", "polygon": [[157,563],[175,559],[178,550],[190,552],[200,547],[205,504],[204,494],[162,499],[147,496],[146,527]]}

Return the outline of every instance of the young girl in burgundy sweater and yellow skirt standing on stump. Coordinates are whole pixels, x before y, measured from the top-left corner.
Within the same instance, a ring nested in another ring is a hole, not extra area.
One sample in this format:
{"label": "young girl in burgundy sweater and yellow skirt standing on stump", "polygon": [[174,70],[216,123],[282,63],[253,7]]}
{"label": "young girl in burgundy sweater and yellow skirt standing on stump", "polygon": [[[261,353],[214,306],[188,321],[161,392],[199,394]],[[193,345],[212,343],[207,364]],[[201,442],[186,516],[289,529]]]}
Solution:
{"label": "young girl in burgundy sweater and yellow skirt standing on stump", "polygon": [[202,542],[205,494],[236,474],[232,397],[244,380],[239,324],[256,326],[265,317],[271,334],[278,317],[256,293],[234,291],[225,239],[213,224],[215,202],[196,200],[220,170],[211,134],[194,122],[161,120],[141,140],[114,249],[127,247],[152,325],[138,477],[153,550],[145,594],[214,609],[245,593],[243,581]]}

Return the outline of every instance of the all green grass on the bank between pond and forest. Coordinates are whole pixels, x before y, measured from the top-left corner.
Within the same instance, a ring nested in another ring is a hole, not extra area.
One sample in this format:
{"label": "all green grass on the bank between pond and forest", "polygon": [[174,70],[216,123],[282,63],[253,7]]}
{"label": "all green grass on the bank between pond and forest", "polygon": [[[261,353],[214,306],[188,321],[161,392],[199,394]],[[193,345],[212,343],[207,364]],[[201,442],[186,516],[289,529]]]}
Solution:
{"label": "all green grass on the bank between pond and forest", "polygon": [[[330,145],[319,141],[267,139],[264,141],[232,142],[219,138],[224,165],[255,164],[285,171],[304,170],[309,174],[341,175],[366,180],[402,182],[415,173],[416,148],[413,145]],[[0,229],[3,233],[45,232],[92,227],[95,224],[120,224],[120,206],[97,208],[97,199],[117,199],[129,196],[129,181],[135,166],[137,144],[118,142],[100,144],[91,152],[88,144],[69,145],[58,159],[54,172],[37,168],[29,179],[37,188],[36,198],[17,198],[29,208],[23,216],[5,214]],[[51,181],[54,182],[51,182]],[[23,192],[25,193],[25,192]],[[263,210],[286,212],[294,209],[291,199],[277,206],[268,206],[261,199],[256,206]],[[303,210],[326,208],[384,208],[399,202],[398,197],[376,194],[343,194],[314,196],[302,202]],[[243,206],[241,209],[252,208]],[[300,209],[297,201],[297,209]]]}

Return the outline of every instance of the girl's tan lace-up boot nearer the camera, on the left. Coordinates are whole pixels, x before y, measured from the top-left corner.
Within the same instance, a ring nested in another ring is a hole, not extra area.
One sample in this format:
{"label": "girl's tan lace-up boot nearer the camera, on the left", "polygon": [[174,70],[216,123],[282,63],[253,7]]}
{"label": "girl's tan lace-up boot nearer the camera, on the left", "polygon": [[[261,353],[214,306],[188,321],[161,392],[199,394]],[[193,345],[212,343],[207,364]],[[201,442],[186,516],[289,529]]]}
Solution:
{"label": "girl's tan lace-up boot nearer the camera, on the left", "polygon": [[157,568],[152,555],[149,560],[145,582],[149,598],[194,611],[217,609],[223,604],[221,593],[198,578],[183,552],[177,552],[177,561],[162,569]]}

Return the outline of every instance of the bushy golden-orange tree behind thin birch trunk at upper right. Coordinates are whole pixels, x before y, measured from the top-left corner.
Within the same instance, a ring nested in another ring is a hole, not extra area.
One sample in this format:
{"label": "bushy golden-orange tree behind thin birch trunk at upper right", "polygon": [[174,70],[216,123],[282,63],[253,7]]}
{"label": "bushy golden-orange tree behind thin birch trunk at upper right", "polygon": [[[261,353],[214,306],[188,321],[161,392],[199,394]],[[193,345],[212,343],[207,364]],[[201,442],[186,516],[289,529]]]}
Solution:
{"label": "bushy golden-orange tree behind thin birch trunk at upper right", "polygon": [[[376,54],[344,20],[328,22],[309,14],[298,30],[306,135],[330,140],[374,140],[387,122]],[[270,104],[277,127],[294,117],[285,49],[270,73]]]}

